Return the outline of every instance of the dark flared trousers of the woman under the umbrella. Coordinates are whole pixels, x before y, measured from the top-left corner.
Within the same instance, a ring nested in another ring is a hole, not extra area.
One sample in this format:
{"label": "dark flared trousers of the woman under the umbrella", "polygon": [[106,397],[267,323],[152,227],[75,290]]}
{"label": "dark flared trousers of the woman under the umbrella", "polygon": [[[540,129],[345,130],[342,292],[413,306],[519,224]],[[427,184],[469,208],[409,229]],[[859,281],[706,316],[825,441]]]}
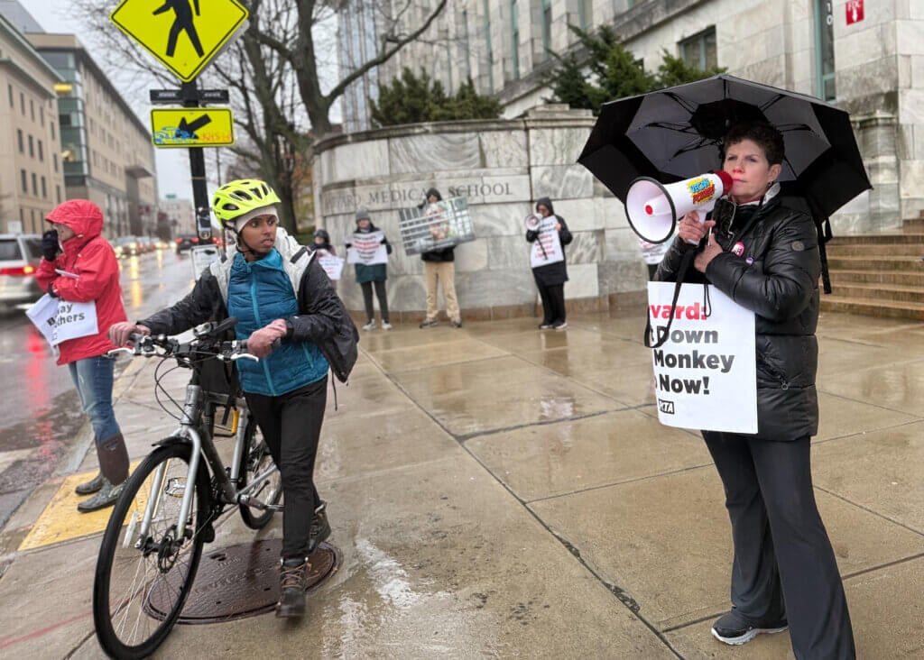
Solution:
{"label": "dark flared trousers of the woman under the umbrella", "polygon": [[809,438],[702,435],[732,522],[732,606],[756,622],[787,618],[798,660],[855,658],[844,585],[812,489]]}

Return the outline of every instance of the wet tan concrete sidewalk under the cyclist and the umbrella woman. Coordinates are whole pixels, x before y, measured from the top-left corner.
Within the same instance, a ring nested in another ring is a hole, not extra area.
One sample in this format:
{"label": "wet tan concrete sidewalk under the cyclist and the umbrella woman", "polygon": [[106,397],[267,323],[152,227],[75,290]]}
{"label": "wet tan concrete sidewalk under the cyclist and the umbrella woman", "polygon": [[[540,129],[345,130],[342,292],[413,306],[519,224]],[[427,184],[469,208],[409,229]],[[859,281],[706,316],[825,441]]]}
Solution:
{"label": "wet tan concrete sidewalk under the cyclist and the umbrella woman", "polygon": [[[536,322],[364,332],[317,468],[340,570],[301,622],[176,626],[159,655],[791,657],[786,634],[709,634],[729,605],[722,485],[699,434],[657,421],[644,319]],[[826,314],[819,337],[816,497],[857,651],[924,657],[924,323]],[[153,366],[136,359],[116,386],[133,459],[176,426]],[[186,377],[168,377],[175,397]],[[93,452],[77,463],[92,472]],[[0,539],[0,656],[102,656],[93,527],[108,512],[62,508],[77,480],[50,480]],[[277,516],[259,536],[280,533]],[[234,514],[206,550],[252,538]]]}

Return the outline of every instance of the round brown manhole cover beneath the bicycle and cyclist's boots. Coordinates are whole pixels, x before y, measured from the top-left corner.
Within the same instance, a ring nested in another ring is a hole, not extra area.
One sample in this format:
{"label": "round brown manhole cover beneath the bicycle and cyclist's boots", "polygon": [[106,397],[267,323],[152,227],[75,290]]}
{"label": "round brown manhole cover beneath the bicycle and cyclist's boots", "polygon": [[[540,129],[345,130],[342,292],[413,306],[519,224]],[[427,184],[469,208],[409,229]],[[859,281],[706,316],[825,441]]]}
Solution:
{"label": "round brown manhole cover beneath the bicycle and cyclist's boots", "polygon": [[[282,539],[274,538],[203,551],[196,581],[176,622],[216,623],[273,611],[279,600],[282,546]],[[311,555],[310,564],[308,592],[336,572],[340,552],[322,543]],[[169,603],[161,594],[169,591],[151,590],[145,609],[153,617],[164,618]]]}

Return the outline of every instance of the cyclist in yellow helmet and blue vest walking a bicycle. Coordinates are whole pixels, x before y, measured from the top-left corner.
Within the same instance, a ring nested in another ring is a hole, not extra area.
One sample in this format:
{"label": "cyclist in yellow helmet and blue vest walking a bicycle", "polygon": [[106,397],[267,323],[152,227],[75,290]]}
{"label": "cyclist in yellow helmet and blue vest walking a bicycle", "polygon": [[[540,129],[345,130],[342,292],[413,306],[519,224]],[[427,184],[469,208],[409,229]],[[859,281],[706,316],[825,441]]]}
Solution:
{"label": "cyclist in yellow helmet and blue vest walking a bicycle", "polygon": [[215,191],[213,212],[236,236],[237,254],[204,270],[176,305],[109,330],[116,346],[132,333],[178,334],[237,317],[235,334],[260,362],[237,364],[241,389],[282,475],[283,550],[276,616],[305,611],[314,550],[331,534],[314,486],[314,462],[330,367],[346,380],[359,333],[313,253],[278,227],[280,199],[266,183],[232,181]]}

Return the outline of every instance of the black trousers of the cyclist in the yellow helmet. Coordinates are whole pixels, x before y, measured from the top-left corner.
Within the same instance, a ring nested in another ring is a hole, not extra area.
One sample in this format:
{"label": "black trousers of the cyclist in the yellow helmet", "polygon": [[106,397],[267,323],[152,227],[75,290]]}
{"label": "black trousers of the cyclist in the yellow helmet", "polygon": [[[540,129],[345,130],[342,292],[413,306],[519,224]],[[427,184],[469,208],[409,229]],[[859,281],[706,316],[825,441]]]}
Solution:
{"label": "black trousers of the cyclist in the yellow helmet", "polygon": [[327,405],[327,377],[282,396],[245,392],[283,482],[283,558],[308,557],[308,534],[321,504],[314,460]]}

